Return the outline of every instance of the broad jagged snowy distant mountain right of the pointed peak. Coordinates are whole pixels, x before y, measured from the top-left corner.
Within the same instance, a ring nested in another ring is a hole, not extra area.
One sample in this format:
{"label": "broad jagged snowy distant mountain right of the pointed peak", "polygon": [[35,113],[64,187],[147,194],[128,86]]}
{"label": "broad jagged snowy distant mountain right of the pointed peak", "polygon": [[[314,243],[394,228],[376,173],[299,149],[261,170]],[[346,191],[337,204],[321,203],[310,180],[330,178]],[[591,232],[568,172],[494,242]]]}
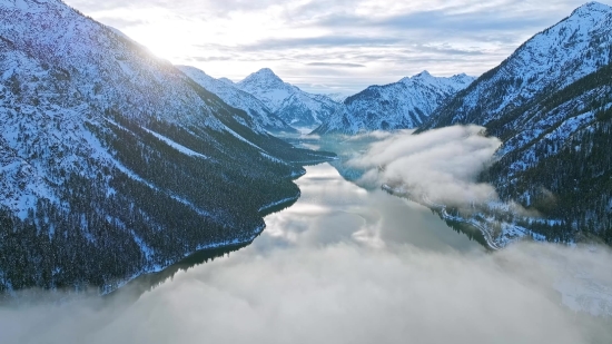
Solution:
{"label": "broad jagged snowy distant mountain right of the pointed peak", "polygon": [[345,108],[314,134],[416,128],[446,100],[465,89],[473,77],[436,78],[423,71],[385,86],[371,86],[348,97]]}

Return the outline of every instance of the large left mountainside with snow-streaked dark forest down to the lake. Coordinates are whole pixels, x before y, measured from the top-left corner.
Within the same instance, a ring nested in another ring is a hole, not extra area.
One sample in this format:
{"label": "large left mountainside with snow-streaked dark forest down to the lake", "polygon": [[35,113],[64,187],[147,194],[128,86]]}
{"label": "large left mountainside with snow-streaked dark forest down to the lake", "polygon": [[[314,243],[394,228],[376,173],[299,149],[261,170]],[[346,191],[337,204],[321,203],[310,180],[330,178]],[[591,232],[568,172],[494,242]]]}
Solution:
{"label": "large left mountainside with snow-streaked dark forest down to the lake", "polygon": [[59,0],[0,2],[0,292],[109,292],[247,243],[332,155],[259,129]]}

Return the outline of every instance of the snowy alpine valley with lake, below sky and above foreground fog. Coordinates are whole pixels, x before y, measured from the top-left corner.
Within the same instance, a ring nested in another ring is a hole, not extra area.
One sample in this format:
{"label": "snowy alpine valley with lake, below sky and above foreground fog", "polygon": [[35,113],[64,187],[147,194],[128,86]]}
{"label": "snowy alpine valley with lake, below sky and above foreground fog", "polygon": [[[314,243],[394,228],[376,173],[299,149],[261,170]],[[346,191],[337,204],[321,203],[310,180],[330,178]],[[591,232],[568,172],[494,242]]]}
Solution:
{"label": "snowy alpine valley with lake, below sky and above foreground fog", "polygon": [[[352,96],[269,68],[233,81],[175,66],[60,0],[1,1],[0,18],[7,302],[140,296],[226,250],[300,240],[483,255],[612,244],[606,4],[478,77],[425,70]],[[610,314],[598,278],[596,301],[571,304]]]}

